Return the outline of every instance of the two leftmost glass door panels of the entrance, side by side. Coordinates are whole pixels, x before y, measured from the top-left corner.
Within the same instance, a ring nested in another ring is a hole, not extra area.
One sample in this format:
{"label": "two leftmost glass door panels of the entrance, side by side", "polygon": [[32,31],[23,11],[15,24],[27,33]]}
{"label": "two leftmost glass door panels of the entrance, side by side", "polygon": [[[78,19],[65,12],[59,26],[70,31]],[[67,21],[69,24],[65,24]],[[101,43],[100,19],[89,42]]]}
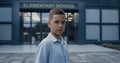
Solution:
{"label": "two leftmost glass door panels of the entrance, side by side", "polygon": [[40,13],[38,12],[22,12],[23,28],[22,42],[23,44],[38,44],[40,41]]}

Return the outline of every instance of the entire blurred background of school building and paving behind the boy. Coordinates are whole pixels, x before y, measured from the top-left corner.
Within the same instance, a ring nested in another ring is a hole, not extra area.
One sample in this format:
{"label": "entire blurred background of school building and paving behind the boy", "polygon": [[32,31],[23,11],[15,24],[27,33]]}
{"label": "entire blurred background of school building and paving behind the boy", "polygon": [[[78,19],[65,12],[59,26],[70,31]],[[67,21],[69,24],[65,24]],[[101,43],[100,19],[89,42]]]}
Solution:
{"label": "entire blurred background of school building and paving behind the boy", "polygon": [[0,63],[34,62],[51,8],[65,11],[72,63],[120,62],[120,0],[0,0]]}

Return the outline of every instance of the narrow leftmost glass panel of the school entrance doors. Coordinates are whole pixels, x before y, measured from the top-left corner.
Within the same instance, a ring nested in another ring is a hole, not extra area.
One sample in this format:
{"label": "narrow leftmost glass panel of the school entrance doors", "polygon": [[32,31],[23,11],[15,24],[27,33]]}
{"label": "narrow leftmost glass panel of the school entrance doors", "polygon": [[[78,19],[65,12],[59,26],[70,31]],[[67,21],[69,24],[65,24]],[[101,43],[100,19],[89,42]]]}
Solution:
{"label": "narrow leftmost glass panel of the school entrance doors", "polygon": [[22,12],[23,16],[23,29],[22,29],[22,41],[24,44],[30,44],[30,29],[31,29],[31,13],[30,12]]}

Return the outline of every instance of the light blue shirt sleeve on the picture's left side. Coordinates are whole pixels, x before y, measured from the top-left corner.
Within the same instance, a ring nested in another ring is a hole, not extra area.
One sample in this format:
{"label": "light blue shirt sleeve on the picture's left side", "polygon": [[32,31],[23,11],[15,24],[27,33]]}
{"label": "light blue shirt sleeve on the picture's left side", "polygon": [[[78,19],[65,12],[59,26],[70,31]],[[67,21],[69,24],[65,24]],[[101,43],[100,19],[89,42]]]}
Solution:
{"label": "light blue shirt sleeve on the picture's left side", "polygon": [[35,63],[48,63],[49,61],[49,49],[46,43],[40,43],[37,52]]}

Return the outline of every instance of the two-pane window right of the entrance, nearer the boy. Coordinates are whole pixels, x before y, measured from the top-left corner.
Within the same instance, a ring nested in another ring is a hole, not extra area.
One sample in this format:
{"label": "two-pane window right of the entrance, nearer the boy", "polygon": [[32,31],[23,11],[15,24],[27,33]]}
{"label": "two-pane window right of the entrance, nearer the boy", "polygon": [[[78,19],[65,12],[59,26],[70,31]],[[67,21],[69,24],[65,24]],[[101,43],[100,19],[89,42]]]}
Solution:
{"label": "two-pane window right of the entrance, nearer the boy", "polygon": [[99,23],[100,23],[100,10],[86,9],[86,40],[100,41]]}

